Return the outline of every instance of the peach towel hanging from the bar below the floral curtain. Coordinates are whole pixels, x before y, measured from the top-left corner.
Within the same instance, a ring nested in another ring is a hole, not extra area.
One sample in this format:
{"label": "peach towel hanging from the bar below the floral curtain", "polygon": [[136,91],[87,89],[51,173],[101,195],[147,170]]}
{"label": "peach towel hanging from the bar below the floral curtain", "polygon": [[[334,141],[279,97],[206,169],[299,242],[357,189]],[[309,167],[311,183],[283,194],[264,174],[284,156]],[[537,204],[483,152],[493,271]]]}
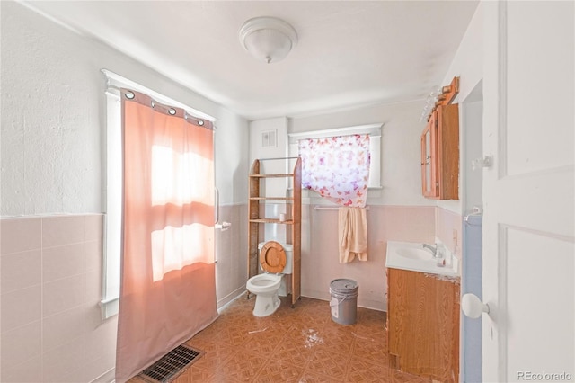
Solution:
{"label": "peach towel hanging from the bar below the floral curtain", "polygon": [[340,263],[349,263],[356,255],[359,261],[367,261],[366,209],[341,207],[338,227]]}

